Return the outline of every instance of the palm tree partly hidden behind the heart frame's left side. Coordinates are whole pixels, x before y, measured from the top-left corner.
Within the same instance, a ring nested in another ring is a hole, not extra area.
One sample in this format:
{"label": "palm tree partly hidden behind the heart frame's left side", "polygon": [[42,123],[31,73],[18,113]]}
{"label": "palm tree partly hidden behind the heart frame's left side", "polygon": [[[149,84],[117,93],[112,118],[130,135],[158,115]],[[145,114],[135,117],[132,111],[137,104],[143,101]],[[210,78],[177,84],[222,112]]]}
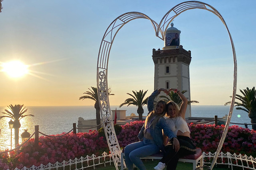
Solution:
{"label": "palm tree partly hidden behind the heart frame's left side", "polygon": [[[84,92],[83,94],[85,94],[86,96],[79,97],[79,100],[92,99],[95,101],[94,108],[96,109],[96,123],[97,125],[99,125],[100,124],[100,105],[98,100],[98,90],[95,87],[91,87],[91,88],[92,90],[88,88],[90,91]],[[114,94],[110,94],[110,92],[111,90],[108,89],[108,95],[114,95]],[[99,129],[100,129],[100,126],[97,126],[97,130]]]}

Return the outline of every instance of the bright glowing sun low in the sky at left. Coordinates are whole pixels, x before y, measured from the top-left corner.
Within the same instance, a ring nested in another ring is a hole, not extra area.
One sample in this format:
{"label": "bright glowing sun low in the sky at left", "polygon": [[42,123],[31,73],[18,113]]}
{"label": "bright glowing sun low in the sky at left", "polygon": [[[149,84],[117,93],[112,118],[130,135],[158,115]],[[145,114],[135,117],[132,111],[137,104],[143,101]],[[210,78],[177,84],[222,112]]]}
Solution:
{"label": "bright glowing sun low in the sky at left", "polygon": [[2,67],[2,71],[11,78],[20,78],[28,74],[28,65],[23,64],[20,61],[2,63]]}

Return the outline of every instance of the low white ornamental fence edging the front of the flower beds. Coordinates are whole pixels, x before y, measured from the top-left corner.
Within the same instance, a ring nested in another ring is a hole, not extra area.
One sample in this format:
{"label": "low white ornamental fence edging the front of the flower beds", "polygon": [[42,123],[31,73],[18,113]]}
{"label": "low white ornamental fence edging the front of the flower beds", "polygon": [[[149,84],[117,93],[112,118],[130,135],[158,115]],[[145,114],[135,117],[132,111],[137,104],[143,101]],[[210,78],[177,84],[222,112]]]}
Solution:
{"label": "low white ornamental fence edging the front of the flower beds", "polygon": [[[209,162],[204,162],[204,164],[211,164],[211,160],[215,156],[215,153],[205,153],[203,152],[203,160],[209,160]],[[74,160],[69,159],[67,162],[63,160],[63,162],[55,163],[55,164],[47,164],[47,165],[39,165],[39,166],[31,166],[23,167],[21,169],[15,168],[14,170],[50,170],[50,169],[69,169],[69,170],[78,170],[78,169],[86,169],[89,167],[93,167],[95,169],[95,166],[98,165],[111,165],[113,162],[113,159],[111,158],[111,154],[107,154],[107,152],[103,152],[102,156],[95,156],[94,154],[92,156],[86,156],[81,157],[79,159],[75,158]],[[253,158],[252,156],[248,157],[246,155],[237,155],[237,154],[230,154],[227,152],[224,154],[221,152],[219,154],[217,165],[228,165],[228,167],[233,170],[233,166],[242,167],[243,169],[256,169],[256,158]],[[9,170],[9,169],[7,169]]]}

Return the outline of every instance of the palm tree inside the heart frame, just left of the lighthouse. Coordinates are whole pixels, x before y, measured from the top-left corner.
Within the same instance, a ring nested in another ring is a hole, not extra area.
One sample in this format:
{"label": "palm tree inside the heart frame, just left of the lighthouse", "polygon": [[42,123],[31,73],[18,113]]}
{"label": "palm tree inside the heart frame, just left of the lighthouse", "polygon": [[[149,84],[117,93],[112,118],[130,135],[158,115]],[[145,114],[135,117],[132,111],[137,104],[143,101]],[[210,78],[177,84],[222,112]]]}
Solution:
{"label": "palm tree inside the heart frame, just left of the lighthouse", "polygon": [[[147,90],[148,91],[148,90]],[[147,104],[148,97],[143,100],[145,97],[147,91],[143,92],[143,90],[140,91],[132,91],[134,96],[127,93],[127,95],[132,96],[132,98],[127,98],[124,103],[122,103],[119,107],[122,107],[123,105],[135,105],[138,107],[137,113],[139,114],[139,120],[142,121],[142,114],[144,113],[143,106]]]}

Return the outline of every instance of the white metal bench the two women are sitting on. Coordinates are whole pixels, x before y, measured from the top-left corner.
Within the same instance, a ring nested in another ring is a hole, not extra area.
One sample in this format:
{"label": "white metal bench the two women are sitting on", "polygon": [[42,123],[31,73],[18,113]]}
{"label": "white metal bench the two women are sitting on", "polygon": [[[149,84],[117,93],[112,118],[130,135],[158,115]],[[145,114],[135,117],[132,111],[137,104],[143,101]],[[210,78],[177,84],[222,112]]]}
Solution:
{"label": "white metal bench the two women are sitting on", "polygon": [[[163,154],[158,153],[158,154],[150,155],[141,159],[162,159],[162,157],[163,157]],[[186,155],[180,158],[179,162],[193,163],[193,170],[196,169],[198,162],[199,162],[199,166],[203,166],[204,162],[203,162],[202,149],[196,148],[195,154]],[[121,153],[121,170],[123,169],[124,169],[124,152]]]}

